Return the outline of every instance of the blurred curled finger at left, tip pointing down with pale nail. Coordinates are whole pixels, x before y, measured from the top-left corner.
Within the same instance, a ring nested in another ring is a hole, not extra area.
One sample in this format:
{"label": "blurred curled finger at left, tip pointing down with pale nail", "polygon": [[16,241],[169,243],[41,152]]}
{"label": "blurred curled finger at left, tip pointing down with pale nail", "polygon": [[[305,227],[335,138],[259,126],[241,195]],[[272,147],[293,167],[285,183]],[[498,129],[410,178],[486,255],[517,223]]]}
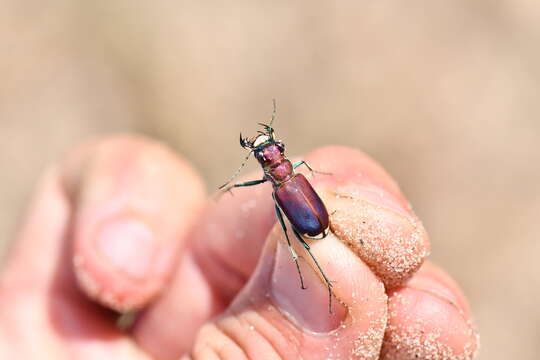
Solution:
{"label": "blurred curled finger at left, tip pointing down with pale nail", "polygon": [[200,179],[163,145],[132,136],[81,148],[63,177],[74,206],[79,286],[115,310],[143,307],[174,268],[202,203]]}

